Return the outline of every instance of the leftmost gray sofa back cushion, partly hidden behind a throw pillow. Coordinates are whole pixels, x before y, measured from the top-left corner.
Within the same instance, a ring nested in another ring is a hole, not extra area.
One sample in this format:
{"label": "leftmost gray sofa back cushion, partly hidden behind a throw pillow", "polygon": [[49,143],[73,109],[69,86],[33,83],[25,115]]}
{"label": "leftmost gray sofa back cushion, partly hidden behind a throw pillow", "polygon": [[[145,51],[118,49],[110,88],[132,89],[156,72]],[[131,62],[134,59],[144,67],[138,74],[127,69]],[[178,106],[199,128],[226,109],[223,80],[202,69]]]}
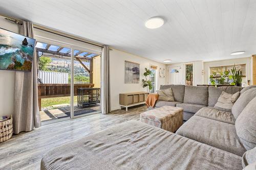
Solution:
{"label": "leftmost gray sofa back cushion, partly hidden behind a throw pillow", "polygon": [[185,85],[168,84],[160,86],[160,90],[167,88],[172,88],[175,102],[183,102]]}

